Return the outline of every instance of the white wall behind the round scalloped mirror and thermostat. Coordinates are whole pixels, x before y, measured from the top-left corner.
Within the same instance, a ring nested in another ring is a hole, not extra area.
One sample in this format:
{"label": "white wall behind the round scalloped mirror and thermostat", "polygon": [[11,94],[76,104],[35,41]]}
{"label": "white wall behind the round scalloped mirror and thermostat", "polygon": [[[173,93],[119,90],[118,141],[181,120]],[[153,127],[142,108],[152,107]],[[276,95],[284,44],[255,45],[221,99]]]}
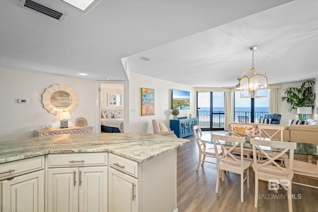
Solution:
{"label": "white wall behind the round scalloped mirror and thermostat", "polygon": [[[60,121],[44,109],[41,102],[42,93],[52,84],[66,84],[79,97],[69,126],[75,126],[79,117],[94,126],[94,80],[0,67],[0,141],[32,138],[34,130],[40,130],[43,125],[60,127]],[[27,98],[29,103],[19,104],[18,98]]]}

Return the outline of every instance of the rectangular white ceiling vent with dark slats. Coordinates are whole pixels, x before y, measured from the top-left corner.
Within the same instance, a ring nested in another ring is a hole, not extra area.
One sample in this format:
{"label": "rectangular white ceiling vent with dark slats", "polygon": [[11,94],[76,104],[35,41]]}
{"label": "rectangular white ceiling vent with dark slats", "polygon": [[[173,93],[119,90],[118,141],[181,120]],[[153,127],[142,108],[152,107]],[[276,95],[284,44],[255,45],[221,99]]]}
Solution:
{"label": "rectangular white ceiling vent with dark slats", "polygon": [[39,0],[20,0],[19,6],[64,21],[68,14]]}

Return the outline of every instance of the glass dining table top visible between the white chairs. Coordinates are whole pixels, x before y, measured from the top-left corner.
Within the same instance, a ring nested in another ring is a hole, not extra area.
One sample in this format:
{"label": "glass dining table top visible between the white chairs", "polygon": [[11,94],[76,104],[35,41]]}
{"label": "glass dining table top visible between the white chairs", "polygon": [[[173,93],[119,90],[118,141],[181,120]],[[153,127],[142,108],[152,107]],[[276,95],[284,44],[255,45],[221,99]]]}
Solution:
{"label": "glass dining table top visible between the white chairs", "polygon": [[[224,136],[235,136],[235,135],[229,135],[228,133],[218,133]],[[204,141],[206,143],[213,143],[212,134],[204,134],[201,137],[198,138],[200,141]],[[255,137],[255,139],[261,139],[266,141],[279,141],[277,139],[268,139],[268,138],[259,138]],[[305,142],[299,142],[299,141],[288,141],[284,140],[284,142],[295,142],[297,143],[297,148],[294,150],[294,154],[304,154],[304,155],[318,155],[318,146],[313,143],[305,143]],[[221,142],[223,145],[227,146],[234,146],[236,142]],[[244,148],[252,149],[252,144],[248,140],[245,140],[245,143],[243,144]],[[280,148],[273,148],[268,146],[262,146],[263,150],[267,151],[277,151],[281,152],[283,149]]]}

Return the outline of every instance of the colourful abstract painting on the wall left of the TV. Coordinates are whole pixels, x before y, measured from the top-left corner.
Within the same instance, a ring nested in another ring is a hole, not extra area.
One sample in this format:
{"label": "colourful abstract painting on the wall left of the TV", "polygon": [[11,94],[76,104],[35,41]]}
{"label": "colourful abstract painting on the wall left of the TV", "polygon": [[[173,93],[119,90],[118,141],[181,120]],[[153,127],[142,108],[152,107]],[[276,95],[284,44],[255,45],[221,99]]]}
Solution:
{"label": "colourful abstract painting on the wall left of the TV", "polygon": [[155,89],[141,88],[141,115],[155,115]]}

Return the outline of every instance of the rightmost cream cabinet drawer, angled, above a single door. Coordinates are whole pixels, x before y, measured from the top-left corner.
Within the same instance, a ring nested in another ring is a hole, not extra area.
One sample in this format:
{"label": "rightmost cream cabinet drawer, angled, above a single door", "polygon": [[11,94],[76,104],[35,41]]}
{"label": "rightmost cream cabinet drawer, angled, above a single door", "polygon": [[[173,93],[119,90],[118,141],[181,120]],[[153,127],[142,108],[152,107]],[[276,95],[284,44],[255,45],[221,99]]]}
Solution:
{"label": "rightmost cream cabinet drawer, angled, above a single door", "polygon": [[123,171],[133,177],[139,177],[138,162],[115,155],[109,154],[109,165],[117,170]]}

